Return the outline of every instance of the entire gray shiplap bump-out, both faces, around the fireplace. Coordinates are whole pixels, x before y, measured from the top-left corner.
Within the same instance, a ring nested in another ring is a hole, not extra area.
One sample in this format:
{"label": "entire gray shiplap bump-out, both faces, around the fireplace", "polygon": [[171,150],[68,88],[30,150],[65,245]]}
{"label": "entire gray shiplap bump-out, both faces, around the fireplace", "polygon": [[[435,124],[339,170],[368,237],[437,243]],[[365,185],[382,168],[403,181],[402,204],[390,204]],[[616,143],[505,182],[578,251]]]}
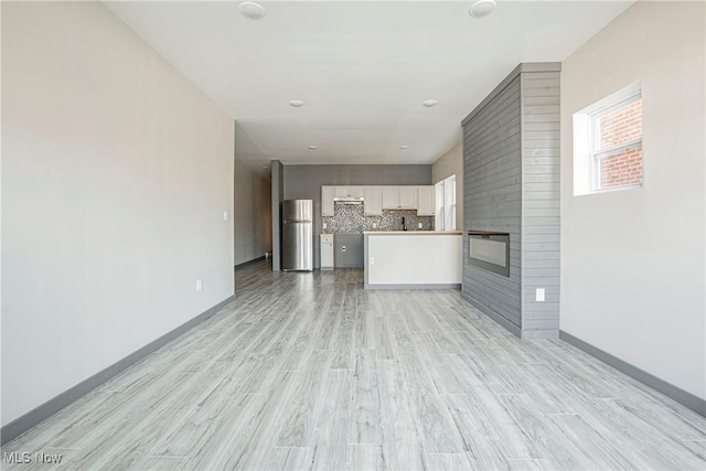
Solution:
{"label": "entire gray shiplap bump-out, both faces, around the fireplace", "polygon": [[464,234],[462,293],[523,338],[558,336],[559,73],[520,64],[462,124],[464,233],[510,233],[510,278],[471,266]]}

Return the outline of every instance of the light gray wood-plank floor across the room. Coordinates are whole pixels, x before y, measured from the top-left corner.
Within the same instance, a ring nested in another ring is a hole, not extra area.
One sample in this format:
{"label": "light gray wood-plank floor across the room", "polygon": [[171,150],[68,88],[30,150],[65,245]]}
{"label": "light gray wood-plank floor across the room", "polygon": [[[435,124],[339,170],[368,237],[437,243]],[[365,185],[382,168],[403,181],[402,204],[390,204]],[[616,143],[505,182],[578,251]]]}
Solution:
{"label": "light gray wood-plank floor across the room", "polygon": [[[459,291],[237,272],[237,300],[3,452],[60,469],[699,469],[706,420]],[[36,463],[3,470],[52,468]]]}

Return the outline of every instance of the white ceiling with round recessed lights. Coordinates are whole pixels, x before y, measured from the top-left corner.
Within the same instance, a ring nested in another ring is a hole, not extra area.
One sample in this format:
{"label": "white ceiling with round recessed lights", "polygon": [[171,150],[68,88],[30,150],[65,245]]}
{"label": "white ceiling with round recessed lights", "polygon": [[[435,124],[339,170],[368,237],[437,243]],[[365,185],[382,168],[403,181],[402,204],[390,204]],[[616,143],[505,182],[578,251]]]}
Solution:
{"label": "white ceiling with round recessed lights", "polygon": [[483,19],[471,1],[261,1],[257,21],[237,1],[105,3],[237,120],[257,169],[431,163],[518,63],[563,61],[632,1],[498,0]]}

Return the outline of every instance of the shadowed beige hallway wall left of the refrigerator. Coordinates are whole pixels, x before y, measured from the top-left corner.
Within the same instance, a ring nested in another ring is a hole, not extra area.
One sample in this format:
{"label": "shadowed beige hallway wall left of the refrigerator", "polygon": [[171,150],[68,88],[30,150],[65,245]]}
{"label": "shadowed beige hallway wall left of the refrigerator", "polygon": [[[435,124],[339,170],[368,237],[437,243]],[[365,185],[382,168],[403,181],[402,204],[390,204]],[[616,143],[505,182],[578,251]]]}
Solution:
{"label": "shadowed beige hallway wall left of the refrigerator", "polygon": [[272,251],[270,181],[235,162],[235,265]]}

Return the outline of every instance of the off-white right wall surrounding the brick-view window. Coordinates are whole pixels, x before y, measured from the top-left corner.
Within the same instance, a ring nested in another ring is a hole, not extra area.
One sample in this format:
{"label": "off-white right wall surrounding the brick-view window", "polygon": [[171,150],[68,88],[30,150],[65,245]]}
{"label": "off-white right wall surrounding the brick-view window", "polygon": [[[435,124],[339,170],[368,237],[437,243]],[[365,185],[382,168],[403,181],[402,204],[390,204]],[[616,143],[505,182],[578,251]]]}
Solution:
{"label": "off-white right wall surrounding the brick-view window", "polygon": [[[704,14],[637,2],[561,72],[560,328],[702,398]],[[571,115],[638,79],[644,188],[573,196]]]}

